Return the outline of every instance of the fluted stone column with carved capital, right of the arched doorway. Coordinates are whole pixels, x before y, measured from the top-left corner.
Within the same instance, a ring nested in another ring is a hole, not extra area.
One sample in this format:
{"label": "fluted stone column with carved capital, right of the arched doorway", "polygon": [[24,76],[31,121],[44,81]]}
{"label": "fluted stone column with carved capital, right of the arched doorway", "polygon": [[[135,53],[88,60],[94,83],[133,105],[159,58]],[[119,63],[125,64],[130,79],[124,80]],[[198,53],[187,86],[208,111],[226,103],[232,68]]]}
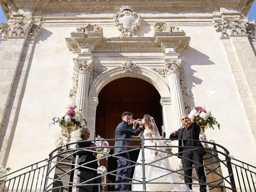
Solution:
{"label": "fluted stone column with carved capital, right of the arched doorway", "polygon": [[170,87],[171,108],[172,108],[172,130],[177,130],[181,126],[180,116],[186,114],[182,89],[180,86],[180,71],[182,70],[182,59],[165,59],[165,70]]}

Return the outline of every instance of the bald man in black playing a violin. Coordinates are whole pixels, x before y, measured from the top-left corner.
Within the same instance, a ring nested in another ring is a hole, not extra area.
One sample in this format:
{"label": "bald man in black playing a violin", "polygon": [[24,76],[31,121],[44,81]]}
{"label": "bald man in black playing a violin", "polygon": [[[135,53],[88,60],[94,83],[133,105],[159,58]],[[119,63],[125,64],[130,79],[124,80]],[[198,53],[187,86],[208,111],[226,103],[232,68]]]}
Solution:
{"label": "bald man in black playing a violin", "polygon": [[[182,115],[180,117],[183,128],[179,130],[174,130],[170,134],[170,139],[184,139],[179,140],[178,158],[182,160],[182,166],[184,170],[184,180],[185,183],[192,183],[192,166],[194,164],[196,173],[198,176],[199,183],[206,182],[206,176],[204,174],[204,167],[200,166],[203,164],[203,156],[206,154],[203,149],[194,149],[192,147],[203,148],[201,142],[199,141],[200,126],[196,124],[196,117],[192,116],[191,119],[187,115]],[[188,140],[198,140],[198,141],[187,141]],[[192,184],[189,184],[190,190],[192,190]],[[200,192],[206,192],[206,185],[200,186]]]}

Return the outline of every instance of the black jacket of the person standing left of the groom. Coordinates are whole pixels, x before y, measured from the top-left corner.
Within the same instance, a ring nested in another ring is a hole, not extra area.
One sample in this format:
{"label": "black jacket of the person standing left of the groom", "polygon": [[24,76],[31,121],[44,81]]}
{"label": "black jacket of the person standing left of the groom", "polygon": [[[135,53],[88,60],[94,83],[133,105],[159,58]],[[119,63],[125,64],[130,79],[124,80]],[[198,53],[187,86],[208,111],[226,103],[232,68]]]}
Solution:
{"label": "black jacket of the person standing left of the groom", "polygon": [[[76,144],[76,148],[77,149],[87,148],[87,147],[90,147],[90,145],[92,145],[92,144],[93,144],[92,142],[81,142],[81,143]],[[78,155],[78,165],[82,165],[86,162],[96,160],[96,157],[94,156],[94,152],[80,150],[80,151],[76,152],[76,154]],[[98,168],[97,161],[91,162],[89,164],[85,164],[84,166],[94,168],[94,169]],[[80,171],[94,171],[94,170],[87,169],[87,168],[82,168],[82,167],[79,167],[78,170],[80,170]]]}

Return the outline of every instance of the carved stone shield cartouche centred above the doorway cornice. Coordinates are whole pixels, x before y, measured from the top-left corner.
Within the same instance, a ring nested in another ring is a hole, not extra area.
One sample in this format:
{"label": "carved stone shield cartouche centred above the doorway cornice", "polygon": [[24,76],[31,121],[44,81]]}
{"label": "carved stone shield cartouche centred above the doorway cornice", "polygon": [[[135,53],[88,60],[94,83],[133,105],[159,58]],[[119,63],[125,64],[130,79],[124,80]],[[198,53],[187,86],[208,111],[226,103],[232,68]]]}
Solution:
{"label": "carved stone shield cartouche centred above the doorway cornice", "polygon": [[[120,12],[114,15],[114,26],[122,33],[121,37],[132,37],[134,31],[140,26],[140,15],[133,11],[131,6],[122,6]],[[135,36],[137,37],[137,36]]]}

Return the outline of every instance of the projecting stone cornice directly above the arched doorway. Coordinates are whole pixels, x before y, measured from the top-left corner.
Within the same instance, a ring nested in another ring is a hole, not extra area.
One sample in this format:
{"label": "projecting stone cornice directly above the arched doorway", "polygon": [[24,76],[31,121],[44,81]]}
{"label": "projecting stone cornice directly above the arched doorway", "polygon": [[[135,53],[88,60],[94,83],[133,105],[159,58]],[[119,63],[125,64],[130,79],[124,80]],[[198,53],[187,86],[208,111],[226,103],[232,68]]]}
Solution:
{"label": "projecting stone cornice directly above the arched doorway", "polygon": [[176,52],[182,52],[190,42],[185,32],[156,32],[154,37],[113,37],[103,38],[102,32],[74,33],[66,38],[66,44],[73,53],[81,53],[82,48],[92,52],[164,52],[166,46],[172,46]]}

